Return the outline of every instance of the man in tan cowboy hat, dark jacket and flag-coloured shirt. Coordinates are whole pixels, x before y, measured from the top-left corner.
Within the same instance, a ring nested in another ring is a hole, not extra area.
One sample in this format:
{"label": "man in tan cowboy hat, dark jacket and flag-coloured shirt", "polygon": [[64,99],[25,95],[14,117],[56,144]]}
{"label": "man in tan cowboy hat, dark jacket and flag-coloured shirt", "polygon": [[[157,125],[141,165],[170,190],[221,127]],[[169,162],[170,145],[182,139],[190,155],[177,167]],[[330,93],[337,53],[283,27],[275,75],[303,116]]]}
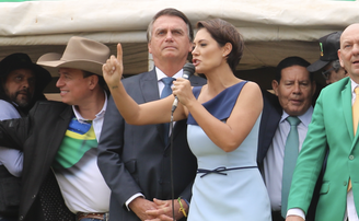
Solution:
{"label": "man in tan cowboy hat, dark jacket and flag-coloured shirt", "polygon": [[53,173],[77,220],[108,219],[111,191],[96,164],[107,104],[102,65],[108,57],[107,46],[71,37],[63,55],[46,54],[37,61],[58,69],[62,102],[38,102],[27,118],[0,123],[0,146],[24,151],[20,220],[73,220],[44,208],[51,196],[42,190]]}

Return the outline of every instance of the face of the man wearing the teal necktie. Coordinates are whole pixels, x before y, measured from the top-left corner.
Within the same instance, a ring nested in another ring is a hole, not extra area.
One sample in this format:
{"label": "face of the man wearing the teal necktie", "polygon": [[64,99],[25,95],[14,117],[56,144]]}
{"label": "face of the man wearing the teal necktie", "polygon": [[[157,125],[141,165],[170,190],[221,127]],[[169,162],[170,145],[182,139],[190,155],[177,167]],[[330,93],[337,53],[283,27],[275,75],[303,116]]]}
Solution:
{"label": "face of the man wearing the teal necktie", "polygon": [[315,82],[311,82],[306,68],[292,66],[281,70],[281,79],[271,83],[280,106],[290,116],[303,115],[312,105]]}

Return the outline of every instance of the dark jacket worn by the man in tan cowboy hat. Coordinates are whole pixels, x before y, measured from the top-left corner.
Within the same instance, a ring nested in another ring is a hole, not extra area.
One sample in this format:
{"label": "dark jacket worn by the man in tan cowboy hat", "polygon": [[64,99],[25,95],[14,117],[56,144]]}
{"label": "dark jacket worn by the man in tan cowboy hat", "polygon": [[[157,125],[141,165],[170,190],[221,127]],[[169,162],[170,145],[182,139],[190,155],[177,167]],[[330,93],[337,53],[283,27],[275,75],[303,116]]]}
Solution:
{"label": "dark jacket worn by the man in tan cowboy hat", "polygon": [[[44,101],[36,103],[27,117],[0,123],[0,146],[24,151],[20,220],[44,220],[40,190],[53,175],[50,166],[71,116],[71,106]],[[63,199],[61,205],[57,200],[50,199],[53,209],[63,206]]]}

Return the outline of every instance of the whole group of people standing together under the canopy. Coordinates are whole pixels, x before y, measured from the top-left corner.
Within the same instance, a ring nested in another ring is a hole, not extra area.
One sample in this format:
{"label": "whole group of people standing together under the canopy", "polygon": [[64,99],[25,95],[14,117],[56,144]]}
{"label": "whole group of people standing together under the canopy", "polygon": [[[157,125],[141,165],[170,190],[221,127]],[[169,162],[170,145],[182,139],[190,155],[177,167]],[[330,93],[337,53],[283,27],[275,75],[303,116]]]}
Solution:
{"label": "whole group of people standing together under the canopy", "polygon": [[[359,24],[321,37],[313,63],[283,58],[274,93],[234,74],[231,23],[196,28],[159,11],[154,68],[126,79],[120,44],[78,36],[2,59],[0,220],[358,221]],[[204,77],[184,77],[189,53]],[[61,102],[43,94],[50,69]]]}

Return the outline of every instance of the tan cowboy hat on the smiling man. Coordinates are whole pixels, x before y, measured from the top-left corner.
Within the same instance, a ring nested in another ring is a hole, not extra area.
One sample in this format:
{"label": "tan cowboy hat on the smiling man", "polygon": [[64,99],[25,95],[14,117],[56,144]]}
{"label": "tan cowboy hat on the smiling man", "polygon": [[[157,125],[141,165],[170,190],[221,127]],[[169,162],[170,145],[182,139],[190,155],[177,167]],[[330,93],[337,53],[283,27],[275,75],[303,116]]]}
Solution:
{"label": "tan cowboy hat on the smiling man", "polygon": [[51,68],[74,68],[102,75],[102,66],[109,57],[109,48],[99,42],[73,36],[69,39],[62,55],[45,54],[37,65]]}

